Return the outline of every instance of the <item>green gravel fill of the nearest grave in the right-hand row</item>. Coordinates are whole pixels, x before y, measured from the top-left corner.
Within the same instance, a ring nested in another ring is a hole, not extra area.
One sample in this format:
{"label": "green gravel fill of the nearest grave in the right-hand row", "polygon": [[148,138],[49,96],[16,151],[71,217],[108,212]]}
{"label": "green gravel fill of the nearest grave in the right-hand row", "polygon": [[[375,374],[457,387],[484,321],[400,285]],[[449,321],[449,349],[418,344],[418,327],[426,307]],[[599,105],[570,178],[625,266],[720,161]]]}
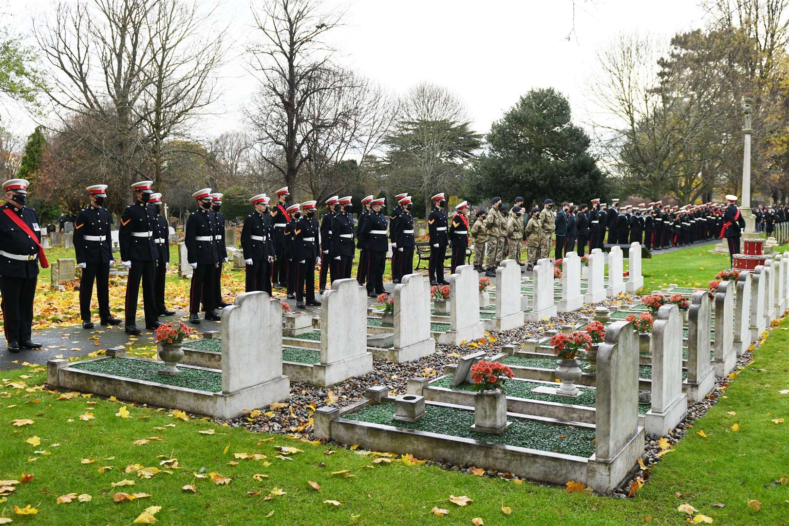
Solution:
{"label": "green gravel fill of the nearest grave in the right-hand row", "polygon": [[570,427],[509,418],[507,420],[510,420],[512,425],[507,431],[501,435],[487,435],[469,430],[474,423],[473,411],[428,405],[424,416],[416,423],[398,422],[392,420],[392,416],[394,416],[394,403],[385,402],[380,405],[367,405],[353,414],[346,415],[345,418],[578,457],[591,457],[594,453],[595,431],[587,427]]}

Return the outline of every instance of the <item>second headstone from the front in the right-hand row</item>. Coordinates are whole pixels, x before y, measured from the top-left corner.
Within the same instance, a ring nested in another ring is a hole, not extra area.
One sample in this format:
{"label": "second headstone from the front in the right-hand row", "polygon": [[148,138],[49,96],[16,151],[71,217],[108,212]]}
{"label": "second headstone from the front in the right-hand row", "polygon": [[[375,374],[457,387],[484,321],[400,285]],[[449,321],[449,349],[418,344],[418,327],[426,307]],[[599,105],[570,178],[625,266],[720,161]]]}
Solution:
{"label": "second headstone from the front in the right-hand row", "polygon": [[679,307],[663,305],[652,330],[652,408],[645,430],[666,435],[685,418],[687,397],[682,394],[682,319]]}

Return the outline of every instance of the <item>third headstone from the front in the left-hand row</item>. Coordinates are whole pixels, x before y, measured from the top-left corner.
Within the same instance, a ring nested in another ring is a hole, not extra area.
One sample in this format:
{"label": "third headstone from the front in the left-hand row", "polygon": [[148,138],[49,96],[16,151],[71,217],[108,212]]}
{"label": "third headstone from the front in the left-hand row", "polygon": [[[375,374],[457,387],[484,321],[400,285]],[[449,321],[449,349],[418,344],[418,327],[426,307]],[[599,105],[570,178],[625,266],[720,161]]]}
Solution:
{"label": "third headstone from the front in the left-hand row", "polygon": [[394,286],[394,352],[398,362],[436,352],[430,336],[430,281],[423,274],[407,274]]}

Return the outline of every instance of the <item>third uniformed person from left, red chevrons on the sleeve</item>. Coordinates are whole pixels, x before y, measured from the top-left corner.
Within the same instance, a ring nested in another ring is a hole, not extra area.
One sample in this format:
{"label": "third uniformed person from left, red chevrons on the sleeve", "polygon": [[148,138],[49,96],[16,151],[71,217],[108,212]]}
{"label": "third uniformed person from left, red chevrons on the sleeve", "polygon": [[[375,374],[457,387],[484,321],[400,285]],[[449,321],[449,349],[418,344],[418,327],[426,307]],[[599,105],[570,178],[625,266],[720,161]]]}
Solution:
{"label": "third uniformed person from left, red chevrons on the sleeve", "polygon": [[159,323],[156,311],[154,282],[156,279],[156,249],[154,231],[158,224],[154,207],[148,206],[153,181],[138,181],[132,185],[134,204],[125,208],[121,215],[121,228],[118,229],[118,244],[121,245],[121,263],[129,269],[126,278],[125,331],[140,334],[136,326],[137,297],[140,294],[140,279],[143,282],[143,306],[145,328],[156,329]]}

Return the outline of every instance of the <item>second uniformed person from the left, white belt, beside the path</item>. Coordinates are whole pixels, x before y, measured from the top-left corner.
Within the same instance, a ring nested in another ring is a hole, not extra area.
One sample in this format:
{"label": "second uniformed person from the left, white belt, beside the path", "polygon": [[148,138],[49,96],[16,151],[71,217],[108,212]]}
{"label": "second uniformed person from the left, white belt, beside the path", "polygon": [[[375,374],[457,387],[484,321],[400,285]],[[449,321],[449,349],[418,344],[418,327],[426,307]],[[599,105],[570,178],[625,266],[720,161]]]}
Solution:
{"label": "second uniformed person from the left, white belt, beside the path", "polygon": [[74,252],[77,265],[82,267],[80,278],[80,316],[82,328],[92,329],[91,298],[96,282],[96,299],[99,300],[99,319],[102,325],[118,325],[120,319],[110,314],[110,264],[112,240],[110,238],[110,212],[102,204],[107,198],[107,185],[92,185],[88,190],[90,206],[77,214],[74,222]]}

